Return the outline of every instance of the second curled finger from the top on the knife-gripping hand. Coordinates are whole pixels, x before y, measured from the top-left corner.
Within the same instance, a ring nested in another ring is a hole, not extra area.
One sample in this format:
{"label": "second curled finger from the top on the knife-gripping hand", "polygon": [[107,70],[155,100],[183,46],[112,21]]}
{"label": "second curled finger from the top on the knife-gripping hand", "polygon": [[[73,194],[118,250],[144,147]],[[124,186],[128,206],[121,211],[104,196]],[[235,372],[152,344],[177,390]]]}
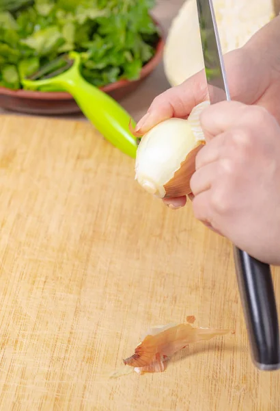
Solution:
{"label": "second curled finger from the top on the knife-gripping hand", "polygon": [[195,169],[199,170],[222,157],[225,157],[229,151],[231,140],[229,133],[225,132],[208,142],[202,149],[199,150],[195,157]]}

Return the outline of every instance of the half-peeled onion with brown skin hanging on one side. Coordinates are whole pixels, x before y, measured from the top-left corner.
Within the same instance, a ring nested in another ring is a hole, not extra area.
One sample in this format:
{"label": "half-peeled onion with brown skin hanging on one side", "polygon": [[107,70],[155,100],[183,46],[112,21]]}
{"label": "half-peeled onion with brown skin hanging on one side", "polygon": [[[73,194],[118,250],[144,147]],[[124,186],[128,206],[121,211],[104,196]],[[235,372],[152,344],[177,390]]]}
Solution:
{"label": "half-peeled onion with brown skin hanging on one side", "polygon": [[162,121],[141,138],[135,179],[145,191],[159,198],[191,193],[195,157],[205,144],[199,116],[209,104],[204,101],[195,106],[186,120]]}

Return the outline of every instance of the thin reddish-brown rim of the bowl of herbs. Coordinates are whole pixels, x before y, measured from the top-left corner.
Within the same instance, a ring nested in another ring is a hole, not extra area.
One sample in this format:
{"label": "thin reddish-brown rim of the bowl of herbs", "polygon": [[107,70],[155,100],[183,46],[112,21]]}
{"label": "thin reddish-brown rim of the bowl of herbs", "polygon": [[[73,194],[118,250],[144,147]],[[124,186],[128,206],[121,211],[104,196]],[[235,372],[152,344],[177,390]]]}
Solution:
{"label": "thin reddish-brown rim of the bowl of herbs", "polygon": [[[164,38],[164,31],[163,27],[161,27],[160,23],[156,21],[153,17],[154,23],[158,26],[160,38],[158,40],[158,44],[156,45],[156,53],[151,58],[151,60],[145,64],[141,70],[140,77],[137,80],[127,80],[121,79],[117,82],[107,84],[106,86],[100,87],[100,90],[104,92],[112,92],[117,90],[118,88],[124,88],[128,84],[137,83],[144,77],[146,77],[154,67],[160,62],[160,59],[163,55],[163,49],[165,47],[165,38]],[[10,97],[19,97],[20,99],[36,99],[36,100],[72,100],[73,97],[68,92],[46,92],[46,91],[33,91],[33,90],[11,90],[7,87],[0,87],[0,95],[10,96]]]}

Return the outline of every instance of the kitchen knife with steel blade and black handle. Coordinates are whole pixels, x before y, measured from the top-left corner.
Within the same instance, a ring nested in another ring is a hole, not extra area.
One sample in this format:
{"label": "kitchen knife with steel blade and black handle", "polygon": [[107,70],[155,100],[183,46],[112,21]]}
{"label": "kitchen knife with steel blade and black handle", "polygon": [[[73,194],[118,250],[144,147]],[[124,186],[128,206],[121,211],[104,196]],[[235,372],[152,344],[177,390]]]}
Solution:
{"label": "kitchen knife with steel blade and black handle", "polygon": [[[197,12],[210,103],[230,101],[212,0],[197,0]],[[234,262],[253,363],[260,370],[280,369],[279,324],[270,266],[235,246]]]}

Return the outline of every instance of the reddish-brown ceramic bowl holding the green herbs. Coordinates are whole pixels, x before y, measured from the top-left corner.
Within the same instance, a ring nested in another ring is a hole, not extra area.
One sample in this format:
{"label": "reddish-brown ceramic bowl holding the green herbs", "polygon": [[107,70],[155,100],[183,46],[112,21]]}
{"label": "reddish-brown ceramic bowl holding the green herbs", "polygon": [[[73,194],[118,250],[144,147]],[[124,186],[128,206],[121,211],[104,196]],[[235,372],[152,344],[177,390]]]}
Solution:
{"label": "reddish-brown ceramic bowl holding the green herbs", "polygon": [[[158,23],[157,23],[158,24]],[[143,66],[138,80],[130,82],[120,80],[101,88],[115,100],[120,100],[135,89],[148,77],[160,63],[165,42],[160,30],[161,38],[156,46],[154,57]],[[80,112],[76,101],[67,92],[40,92],[29,90],[10,90],[0,87],[0,108],[27,114],[59,115]]]}

